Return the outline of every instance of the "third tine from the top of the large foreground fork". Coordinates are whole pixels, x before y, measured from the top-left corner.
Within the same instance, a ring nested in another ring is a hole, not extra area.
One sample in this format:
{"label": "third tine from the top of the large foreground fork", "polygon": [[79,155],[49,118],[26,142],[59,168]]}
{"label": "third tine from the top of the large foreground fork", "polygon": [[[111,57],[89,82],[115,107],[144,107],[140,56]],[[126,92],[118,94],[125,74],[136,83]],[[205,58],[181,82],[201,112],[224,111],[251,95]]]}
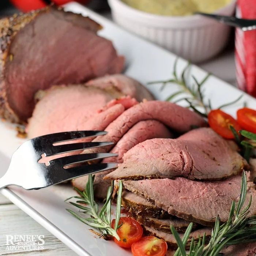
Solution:
{"label": "third tine from the top of the large foreground fork", "polygon": [[117,154],[113,153],[90,153],[90,154],[79,154],[79,155],[69,155],[67,157],[61,157],[49,161],[50,165],[54,166],[67,166],[74,163],[82,163],[87,161],[93,161],[97,159],[107,158],[107,157],[116,157]]}

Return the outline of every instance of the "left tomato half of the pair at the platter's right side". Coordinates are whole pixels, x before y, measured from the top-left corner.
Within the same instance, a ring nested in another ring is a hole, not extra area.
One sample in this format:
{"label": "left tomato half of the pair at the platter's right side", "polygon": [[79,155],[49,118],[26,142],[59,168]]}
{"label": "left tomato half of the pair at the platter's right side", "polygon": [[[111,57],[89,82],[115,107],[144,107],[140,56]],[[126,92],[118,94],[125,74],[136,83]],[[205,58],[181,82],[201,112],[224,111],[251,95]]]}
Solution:
{"label": "left tomato half of the pair at the platter's right side", "polygon": [[208,114],[208,123],[215,132],[225,139],[234,139],[230,126],[233,126],[237,132],[241,130],[238,122],[220,109],[210,111]]}

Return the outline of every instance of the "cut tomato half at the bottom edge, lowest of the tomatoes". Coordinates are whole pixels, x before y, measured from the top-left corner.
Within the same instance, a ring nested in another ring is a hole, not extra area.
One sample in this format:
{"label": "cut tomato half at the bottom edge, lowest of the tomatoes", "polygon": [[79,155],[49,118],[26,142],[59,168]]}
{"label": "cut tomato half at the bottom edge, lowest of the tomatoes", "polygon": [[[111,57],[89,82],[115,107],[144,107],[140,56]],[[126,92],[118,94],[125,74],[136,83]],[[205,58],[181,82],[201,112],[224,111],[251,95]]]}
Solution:
{"label": "cut tomato half at the bottom edge, lowest of the tomatoes", "polygon": [[157,237],[143,237],[140,241],[132,244],[134,256],[164,256],[167,251],[165,240]]}

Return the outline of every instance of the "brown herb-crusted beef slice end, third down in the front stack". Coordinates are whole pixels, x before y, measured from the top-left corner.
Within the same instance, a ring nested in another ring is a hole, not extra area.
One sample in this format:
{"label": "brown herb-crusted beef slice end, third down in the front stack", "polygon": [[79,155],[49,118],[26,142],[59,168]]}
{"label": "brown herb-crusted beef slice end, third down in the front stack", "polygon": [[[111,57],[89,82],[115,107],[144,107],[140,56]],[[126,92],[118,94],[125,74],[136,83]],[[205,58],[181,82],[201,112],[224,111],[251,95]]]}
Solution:
{"label": "brown herb-crusted beef slice end, third down in the front stack", "polygon": [[122,195],[122,205],[133,216],[140,215],[143,217],[168,219],[173,216],[167,211],[155,206],[151,201],[148,201],[143,196],[138,196],[135,193],[124,191]]}

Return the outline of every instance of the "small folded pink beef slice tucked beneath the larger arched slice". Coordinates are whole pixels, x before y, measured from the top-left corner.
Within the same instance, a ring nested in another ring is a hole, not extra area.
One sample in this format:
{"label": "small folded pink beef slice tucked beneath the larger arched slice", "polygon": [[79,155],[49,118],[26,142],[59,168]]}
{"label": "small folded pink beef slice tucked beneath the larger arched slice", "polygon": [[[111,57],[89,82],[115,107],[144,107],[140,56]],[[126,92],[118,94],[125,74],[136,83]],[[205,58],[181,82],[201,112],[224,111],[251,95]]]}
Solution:
{"label": "small folded pink beef slice tucked beneath the larger arched slice", "polygon": [[[109,103],[111,105],[111,103]],[[121,163],[123,155],[136,144],[152,138],[171,138],[172,134],[169,129],[162,123],[155,120],[141,121],[135,124],[125,135],[119,140],[116,146],[110,151],[118,154],[117,157],[106,158],[103,163]],[[104,151],[104,148],[101,148]],[[108,188],[111,184],[110,180],[103,180],[103,177],[111,171],[105,171],[95,174],[94,192],[98,199],[105,199]],[[88,181],[88,176],[76,178],[72,181],[73,187],[83,190]]]}

